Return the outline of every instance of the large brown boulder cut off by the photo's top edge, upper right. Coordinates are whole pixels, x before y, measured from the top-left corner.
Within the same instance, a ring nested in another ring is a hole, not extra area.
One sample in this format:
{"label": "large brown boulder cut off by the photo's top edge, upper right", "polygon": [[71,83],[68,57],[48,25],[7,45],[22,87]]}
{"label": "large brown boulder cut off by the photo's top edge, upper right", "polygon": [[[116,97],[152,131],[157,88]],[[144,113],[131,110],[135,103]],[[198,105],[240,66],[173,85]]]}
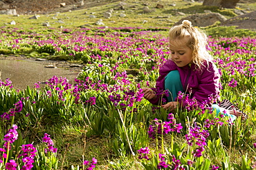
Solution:
{"label": "large brown boulder cut off by the photo's top edge, upper right", "polygon": [[204,0],[203,6],[218,6],[223,8],[235,8],[239,0]]}

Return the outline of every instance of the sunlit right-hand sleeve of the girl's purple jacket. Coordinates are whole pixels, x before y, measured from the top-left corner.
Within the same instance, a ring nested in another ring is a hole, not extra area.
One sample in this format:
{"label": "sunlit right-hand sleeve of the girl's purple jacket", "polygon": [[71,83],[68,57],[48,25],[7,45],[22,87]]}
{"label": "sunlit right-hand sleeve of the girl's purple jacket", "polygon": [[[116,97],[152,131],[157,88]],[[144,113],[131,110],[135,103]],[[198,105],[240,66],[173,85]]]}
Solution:
{"label": "sunlit right-hand sleeve of the girl's purple jacket", "polygon": [[209,104],[211,96],[213,98],[219,96],[219,79],[220,74],[216,65],[214,65],[214,63],[208,63],[208,67],[202,70],[202,74],[199,78],[199,87],[193,95],[197,104]]}

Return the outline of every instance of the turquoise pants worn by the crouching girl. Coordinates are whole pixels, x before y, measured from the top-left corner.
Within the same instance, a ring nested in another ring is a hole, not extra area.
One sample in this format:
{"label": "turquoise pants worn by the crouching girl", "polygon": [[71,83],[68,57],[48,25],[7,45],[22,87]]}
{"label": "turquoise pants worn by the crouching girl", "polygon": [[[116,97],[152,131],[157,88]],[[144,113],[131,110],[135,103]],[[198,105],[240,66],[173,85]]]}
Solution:
{"label": "turquoise pants worn by the crouching girl", "polygon": [[[181,76],[178,70],[174,70],[165,76],[165,90],[169,92],[169,95],[167,96],[168,102],[175,101],[180,91],[184,92],[183,85],[181,84]],[[219,116],[219,113],[224,114],[224,109],[219,107],[219,105],[213,104],[212,108],[213,111],[216,111],[216,116]],[[235,115],[228,113],[224,114],[224,116],[229,116],[231,121],[234,121],[237,118]]]}

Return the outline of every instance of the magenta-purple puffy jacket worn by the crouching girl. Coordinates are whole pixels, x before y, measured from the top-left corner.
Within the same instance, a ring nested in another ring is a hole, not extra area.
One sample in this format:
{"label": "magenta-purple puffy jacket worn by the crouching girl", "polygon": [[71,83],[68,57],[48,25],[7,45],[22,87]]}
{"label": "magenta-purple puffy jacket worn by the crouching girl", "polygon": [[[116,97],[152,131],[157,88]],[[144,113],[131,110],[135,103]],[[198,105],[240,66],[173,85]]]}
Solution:
{"label": "magenta-purple puffy jacket worn by the crouching girl", "polygon": [[[181,83],[183,89],[191,98],[195,98],[197,103],[200,104],[204,101],[208,101],[208,97],[212,95],[217,97],[219,95],[219,70],[214,63],[205,62],[201,67],[201,70],[195,70],[195,65],[191,64],[184,67],[178,67],[170,59],[167,60],[163,66],[159,69],[160,76],[156,80],[156,89],[165,90],[165,76],[172,70],[178,70],[181,76]],[[161,94],[157,95],[157,98],[149,100],[154,105],[159,105]]]}

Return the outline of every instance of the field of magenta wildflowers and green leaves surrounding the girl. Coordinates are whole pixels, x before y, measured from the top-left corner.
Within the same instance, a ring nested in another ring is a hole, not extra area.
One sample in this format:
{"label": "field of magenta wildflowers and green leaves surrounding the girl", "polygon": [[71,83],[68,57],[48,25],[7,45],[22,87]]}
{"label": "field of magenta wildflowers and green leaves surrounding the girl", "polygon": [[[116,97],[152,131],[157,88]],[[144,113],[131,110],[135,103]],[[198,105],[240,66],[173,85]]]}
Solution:
{"label": "field of magenta wildflowers and green leaves surrounding the girl", "polygon": [[86,66],[74,85],[53,76],[44,87],[19,90],[1,80],[0,169],[256,169],[255,37],[209,38],[220,98],[248,114],[230,123],[207,106],[170,113],[143,99],[142,88],[154,87],[170,56],[166,32],[1,28],[6,57]]}

